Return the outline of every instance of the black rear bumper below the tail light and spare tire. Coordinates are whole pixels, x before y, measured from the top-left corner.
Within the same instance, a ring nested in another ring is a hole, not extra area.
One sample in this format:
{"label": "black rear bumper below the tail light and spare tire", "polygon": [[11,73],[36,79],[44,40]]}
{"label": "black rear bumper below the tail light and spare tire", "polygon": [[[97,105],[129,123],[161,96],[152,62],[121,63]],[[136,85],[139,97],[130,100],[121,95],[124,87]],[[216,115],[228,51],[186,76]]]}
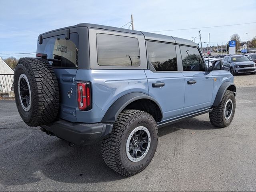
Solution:
{"label": "black rear bumper below the tail light and spare tire", "polygon": [[111,133],[112,128],[113,124],[72,123],[66,120],[58,120],[51,125],[41,126],[41,130],[47,134],[54,134],[79,146],[94,144],[102,140]]}

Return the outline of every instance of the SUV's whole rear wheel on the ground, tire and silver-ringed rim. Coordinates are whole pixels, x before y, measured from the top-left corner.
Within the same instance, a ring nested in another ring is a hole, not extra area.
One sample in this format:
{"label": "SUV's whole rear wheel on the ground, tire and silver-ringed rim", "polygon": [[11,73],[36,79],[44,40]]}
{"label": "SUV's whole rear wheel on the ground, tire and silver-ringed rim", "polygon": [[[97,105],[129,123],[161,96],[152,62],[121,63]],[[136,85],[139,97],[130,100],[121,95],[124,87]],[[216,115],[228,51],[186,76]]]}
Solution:
{"label": "SUV's whole rear wheel on the ground, tire and silver-ringed rim", "polygon": [[151,162],[158,144],[158,128],[154,118],[139,110],[123,110],[112,134],[102,141],[105,163],[123,176],[133,176]]}

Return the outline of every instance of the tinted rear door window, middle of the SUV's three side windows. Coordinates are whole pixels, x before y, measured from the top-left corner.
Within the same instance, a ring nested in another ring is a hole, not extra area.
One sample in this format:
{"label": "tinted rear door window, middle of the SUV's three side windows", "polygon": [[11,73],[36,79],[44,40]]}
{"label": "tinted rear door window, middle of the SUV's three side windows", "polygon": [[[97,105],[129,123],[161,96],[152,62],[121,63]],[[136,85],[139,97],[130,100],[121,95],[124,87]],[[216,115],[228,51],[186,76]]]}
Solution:
{"label": "tinted rear door window, middle of the SUV's three side windows", "polygon": [[175,45],[160,42],[147,42],[148,61],[152,71],[177,71]]}

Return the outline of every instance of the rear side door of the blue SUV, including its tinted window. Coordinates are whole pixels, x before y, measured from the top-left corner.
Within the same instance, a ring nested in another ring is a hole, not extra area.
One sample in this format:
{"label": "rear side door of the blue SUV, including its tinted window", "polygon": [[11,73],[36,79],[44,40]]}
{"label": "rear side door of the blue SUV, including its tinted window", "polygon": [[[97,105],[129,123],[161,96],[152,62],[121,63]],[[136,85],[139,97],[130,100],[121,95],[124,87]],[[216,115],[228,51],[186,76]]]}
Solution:
{"label": "rear side door of the blue SUV, including its tinted window", "polygon": [[147,41],[150,70],[148,78],[149,95],[155,98],[163,111],[163,121],[182,114],[185,83],[178,71],[176,46],[174,44]]}

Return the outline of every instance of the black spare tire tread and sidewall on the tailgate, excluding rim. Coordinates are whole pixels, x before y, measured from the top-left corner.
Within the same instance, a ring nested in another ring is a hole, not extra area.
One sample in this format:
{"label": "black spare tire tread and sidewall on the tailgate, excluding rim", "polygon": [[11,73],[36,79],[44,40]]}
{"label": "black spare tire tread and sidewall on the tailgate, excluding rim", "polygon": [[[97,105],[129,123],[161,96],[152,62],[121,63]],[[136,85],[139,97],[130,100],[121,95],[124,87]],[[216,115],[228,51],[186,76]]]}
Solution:
{"label": "black spare tire tread and sidewall on the tailgate, excluding rim", "polygon": [[[18,82],[24,74],[31,92],[31,105],[28,111],[20,101]],[[21,58],[14,72],[15,101],[21,118],[28,126],[40,126],[53,122],[59,109],[58,81],[52,66],[42,58]]]}

